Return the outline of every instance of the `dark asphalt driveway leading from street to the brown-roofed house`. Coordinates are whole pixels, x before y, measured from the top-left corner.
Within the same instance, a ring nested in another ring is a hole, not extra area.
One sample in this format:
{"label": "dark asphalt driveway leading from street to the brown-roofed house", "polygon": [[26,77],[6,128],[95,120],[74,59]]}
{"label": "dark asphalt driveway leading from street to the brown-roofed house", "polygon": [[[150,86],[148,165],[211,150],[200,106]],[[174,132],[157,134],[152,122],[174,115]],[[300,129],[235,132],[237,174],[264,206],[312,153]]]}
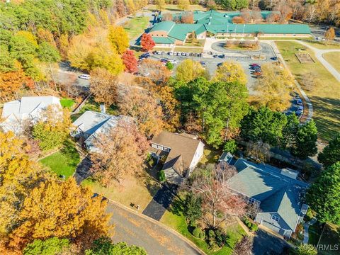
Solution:
{"label": "dark asphalt driveway leading from street to the brown-roofed house", "polygon": [[168,186],[163,185],[142,213],[154,220],[161,220],[164,212],[169,208],[176,191],[176,186],[169,186],[168,188]]}

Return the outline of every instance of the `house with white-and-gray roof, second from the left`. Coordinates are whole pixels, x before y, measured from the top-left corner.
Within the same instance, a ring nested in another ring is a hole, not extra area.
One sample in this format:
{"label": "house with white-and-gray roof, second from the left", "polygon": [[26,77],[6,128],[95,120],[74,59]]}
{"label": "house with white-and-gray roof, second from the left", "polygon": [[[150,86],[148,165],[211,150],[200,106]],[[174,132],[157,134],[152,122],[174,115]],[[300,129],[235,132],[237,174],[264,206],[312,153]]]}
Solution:
{"label": "house with white-and-gray roof, second from the left", "polygon": [[118,125],[118,121],[129,117],[86,111],[73,123],[71,136],[79,139],[89,152],[98,152],[95,144],[101,142],[102,135],[108,134]]}

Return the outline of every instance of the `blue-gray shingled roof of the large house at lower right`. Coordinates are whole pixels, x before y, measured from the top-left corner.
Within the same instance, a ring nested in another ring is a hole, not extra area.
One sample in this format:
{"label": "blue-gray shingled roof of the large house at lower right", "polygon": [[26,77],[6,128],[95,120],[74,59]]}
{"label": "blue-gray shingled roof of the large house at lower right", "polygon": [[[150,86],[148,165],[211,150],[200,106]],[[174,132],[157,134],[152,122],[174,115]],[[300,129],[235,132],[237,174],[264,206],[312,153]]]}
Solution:
{"label": "blue-gray shingled roof of the large house at lower right", "polygon": [[234,166],[238,174],[230,179],[230,188],[249,198],[261,201],[263,212],[277,212],[295,229],[302,208],[301,196],[307,183],[281,174],[281,169],[238,159]]}

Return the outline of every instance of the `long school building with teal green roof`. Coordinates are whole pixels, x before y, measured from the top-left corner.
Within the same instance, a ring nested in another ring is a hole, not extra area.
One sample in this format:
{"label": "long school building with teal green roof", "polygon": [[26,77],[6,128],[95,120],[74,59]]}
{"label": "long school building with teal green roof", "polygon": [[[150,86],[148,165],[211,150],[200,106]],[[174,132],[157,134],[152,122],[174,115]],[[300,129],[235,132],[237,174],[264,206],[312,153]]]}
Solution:
{"label": "long school building with teal green roof", "polygon": [[[261,11],[261,16],[266,18],[271,11]],[[174,21],[162,21],[157,23],[150,31],[152,39],[157,46],[171,47],[185,45],[189,35],[194,34],[196,39],[202,40],[207,36],[249,37],[254,35],[275,37],[309,37],[310,27],[305,24],[237,24],[232,18],[240,16],[239,11],[193,11],[193,24],[176,23],[180,21],[183,13],[174,14]],[[162,15],[161,15],[162,20]]]}

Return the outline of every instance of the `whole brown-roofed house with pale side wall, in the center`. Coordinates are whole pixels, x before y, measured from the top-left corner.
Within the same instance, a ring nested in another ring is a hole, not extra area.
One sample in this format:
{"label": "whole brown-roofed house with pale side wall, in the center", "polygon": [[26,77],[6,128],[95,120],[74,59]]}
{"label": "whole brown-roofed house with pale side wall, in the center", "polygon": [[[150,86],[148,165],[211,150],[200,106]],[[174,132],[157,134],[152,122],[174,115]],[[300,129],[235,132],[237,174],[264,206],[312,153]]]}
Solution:
{"label": "whole brown-roofed house with pale side wall, in the center", "polygon": [[165,158],[166,181],[179,185],[200,162],[203,150],[203,142],[193,135],[162,131],[152,138],[150,154],[158,160]]}

